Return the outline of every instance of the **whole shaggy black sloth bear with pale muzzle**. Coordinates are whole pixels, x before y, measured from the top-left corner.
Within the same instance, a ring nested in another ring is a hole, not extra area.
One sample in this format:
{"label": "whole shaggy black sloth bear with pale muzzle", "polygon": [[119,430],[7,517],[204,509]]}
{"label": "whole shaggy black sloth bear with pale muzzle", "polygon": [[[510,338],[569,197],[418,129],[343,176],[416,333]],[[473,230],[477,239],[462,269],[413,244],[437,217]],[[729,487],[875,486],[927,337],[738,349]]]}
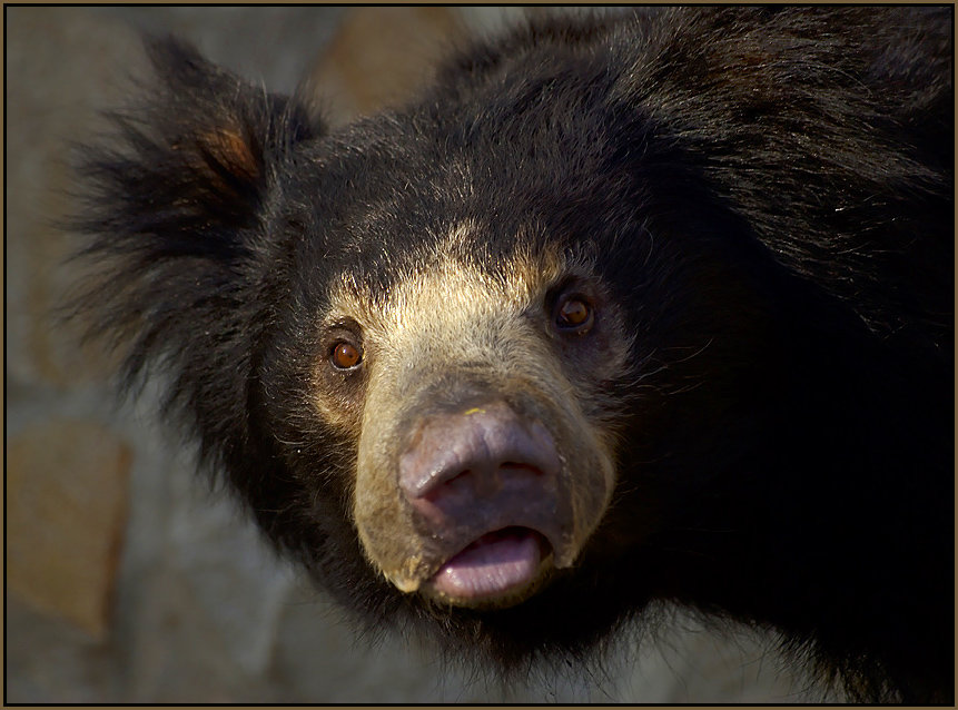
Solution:
{"label": "whole shaggy black sloth bear with pale muzzle", "polygon": [[355,617],[502,672],[652,602],[954,699],[949,8],[551,19],[328,129],[171,39],[77,308]]}

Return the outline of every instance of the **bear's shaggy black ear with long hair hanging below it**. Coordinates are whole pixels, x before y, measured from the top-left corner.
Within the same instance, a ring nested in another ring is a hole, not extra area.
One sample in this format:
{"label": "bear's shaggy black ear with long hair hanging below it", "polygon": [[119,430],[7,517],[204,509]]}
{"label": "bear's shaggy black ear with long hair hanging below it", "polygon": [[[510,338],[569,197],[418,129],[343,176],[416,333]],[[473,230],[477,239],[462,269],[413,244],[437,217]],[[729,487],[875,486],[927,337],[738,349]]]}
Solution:
{"label": "bear's shaggy black ear with long hair hanging below it", "polygon": [[[68,318],[125,356],[124,384],[168,379],[204,454],[240,451],[261,332],[282,297],[269,195],[296,146],[320,134],[269,95],[171,39],[147,39],[155,78],[115,135],[80,148],[76,214],[86,267]],[[279,294],[279,295],[277,295]]]}

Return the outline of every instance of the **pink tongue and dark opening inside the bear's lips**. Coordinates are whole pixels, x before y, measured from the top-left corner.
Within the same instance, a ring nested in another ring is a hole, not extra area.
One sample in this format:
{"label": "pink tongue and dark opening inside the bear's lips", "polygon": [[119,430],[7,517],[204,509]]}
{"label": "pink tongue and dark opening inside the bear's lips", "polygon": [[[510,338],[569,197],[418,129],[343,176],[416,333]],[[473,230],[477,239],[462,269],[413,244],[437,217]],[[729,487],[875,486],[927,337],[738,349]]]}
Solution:
{"label": "pink tongue and dark opening inside the bear's lips", "polygon": [[446,562],[433,588],[457,599],[496,596],[532,581],[539,562],[533,533],[490,533]]}

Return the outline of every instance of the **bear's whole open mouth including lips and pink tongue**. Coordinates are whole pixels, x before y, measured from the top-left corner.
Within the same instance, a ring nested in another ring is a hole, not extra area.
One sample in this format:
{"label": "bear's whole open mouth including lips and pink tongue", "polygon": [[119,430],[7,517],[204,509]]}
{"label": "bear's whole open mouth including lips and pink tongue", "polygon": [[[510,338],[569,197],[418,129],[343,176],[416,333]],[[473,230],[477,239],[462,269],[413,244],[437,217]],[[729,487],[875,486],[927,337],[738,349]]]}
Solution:
{"label": "bear's whole open mouth including lips and pink tongue", "polygon": [[456,607],[511,607],[535,590],[552,558],[552,545],[541,533],[530,527],[503,527],[485,533],[446,560],[422,591]]}

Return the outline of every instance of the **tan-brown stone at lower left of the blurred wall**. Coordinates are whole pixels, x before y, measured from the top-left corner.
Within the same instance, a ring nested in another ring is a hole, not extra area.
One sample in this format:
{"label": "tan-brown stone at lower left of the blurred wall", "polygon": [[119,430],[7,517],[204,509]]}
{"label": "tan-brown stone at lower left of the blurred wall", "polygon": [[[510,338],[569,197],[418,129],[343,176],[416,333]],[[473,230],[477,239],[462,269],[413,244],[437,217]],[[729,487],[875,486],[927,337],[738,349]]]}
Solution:
{"label": "tan-brown stone at lower left of the blurred wall", "polygon": [[34,425],[7,444],[7,590],[100,638],[131,452],[106,428],[69,420]]}

